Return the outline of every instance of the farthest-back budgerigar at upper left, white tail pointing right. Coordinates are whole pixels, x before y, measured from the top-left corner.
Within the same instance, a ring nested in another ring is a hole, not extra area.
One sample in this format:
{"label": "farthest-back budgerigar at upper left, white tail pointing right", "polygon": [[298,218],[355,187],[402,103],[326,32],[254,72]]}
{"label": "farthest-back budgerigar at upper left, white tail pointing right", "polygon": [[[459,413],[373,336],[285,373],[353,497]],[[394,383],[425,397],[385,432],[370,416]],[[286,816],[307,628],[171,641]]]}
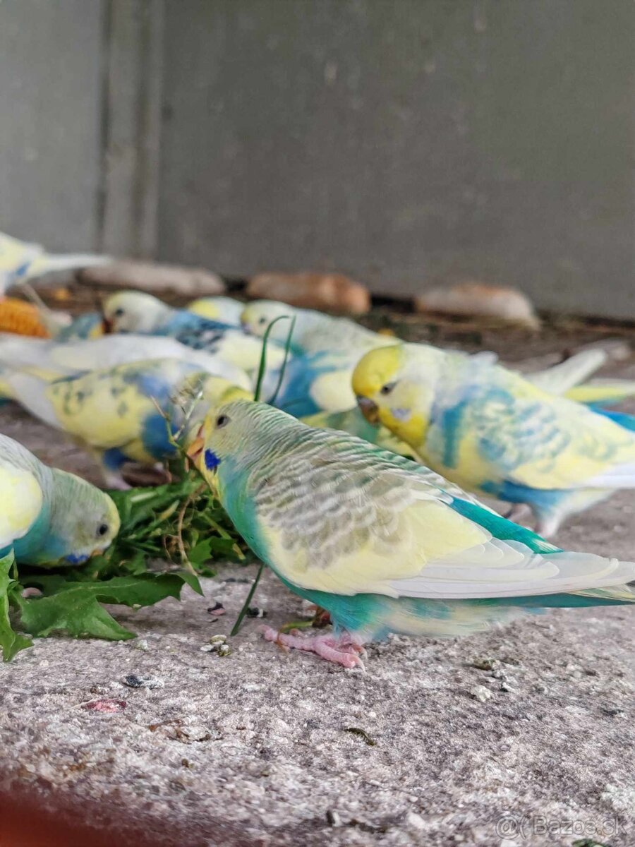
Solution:
{"label": "farthest-back budgerigar at upper left, white tail pointing right", "polygon": [[0,232],[0,294],[14,285],[35,280],[52,271],[87,268],[110,261],[108,257],[91,253],[51,255],[39,244],[19,241]]}

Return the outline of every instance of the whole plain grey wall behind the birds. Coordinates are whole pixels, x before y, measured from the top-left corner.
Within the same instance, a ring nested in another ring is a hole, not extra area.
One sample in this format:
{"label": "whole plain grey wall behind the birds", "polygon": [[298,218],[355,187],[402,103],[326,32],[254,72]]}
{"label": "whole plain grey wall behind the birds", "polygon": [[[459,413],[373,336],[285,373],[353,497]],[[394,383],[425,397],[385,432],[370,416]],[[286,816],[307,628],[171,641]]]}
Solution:
{"label": "whole plain grey wall behind the birds", "polygon": [[0,230],[635,318],[631,0],[3,0]]}

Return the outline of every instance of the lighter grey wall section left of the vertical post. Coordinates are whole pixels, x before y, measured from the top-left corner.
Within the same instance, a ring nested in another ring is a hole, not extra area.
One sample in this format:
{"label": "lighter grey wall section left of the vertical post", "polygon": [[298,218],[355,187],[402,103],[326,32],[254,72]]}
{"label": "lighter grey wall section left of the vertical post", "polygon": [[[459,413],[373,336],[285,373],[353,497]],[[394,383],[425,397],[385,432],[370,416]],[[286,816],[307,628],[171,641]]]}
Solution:
{"label": "lighter grey wall section left of the vertical post", "polygon": [[0,230],[96,247],[102,167],[101,0],[0,3]]}

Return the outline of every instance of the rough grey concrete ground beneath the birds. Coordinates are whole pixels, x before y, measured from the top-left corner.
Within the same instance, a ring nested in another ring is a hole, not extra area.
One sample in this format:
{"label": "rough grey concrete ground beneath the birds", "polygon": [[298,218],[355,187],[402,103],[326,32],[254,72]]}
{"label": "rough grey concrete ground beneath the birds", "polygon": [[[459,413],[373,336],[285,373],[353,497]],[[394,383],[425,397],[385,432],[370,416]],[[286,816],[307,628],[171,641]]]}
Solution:
{"label": "rough grey concrete ground beneath the birds", "polygon": [[[11,407],[0,431],[94,471]],[[632,559],[634,509],[616,495],[557,540]],[[119,610],[138,639],[41,639],[0,668],[0,844],[101,844],[82,821],[122,847],[635,844],[635,610],[395,637],[370,646],[367,673],[284,653],[257,620],[229,656],[202,650],[253,573]],[[273,626],[302,612],[270,574],[254,602]]]}

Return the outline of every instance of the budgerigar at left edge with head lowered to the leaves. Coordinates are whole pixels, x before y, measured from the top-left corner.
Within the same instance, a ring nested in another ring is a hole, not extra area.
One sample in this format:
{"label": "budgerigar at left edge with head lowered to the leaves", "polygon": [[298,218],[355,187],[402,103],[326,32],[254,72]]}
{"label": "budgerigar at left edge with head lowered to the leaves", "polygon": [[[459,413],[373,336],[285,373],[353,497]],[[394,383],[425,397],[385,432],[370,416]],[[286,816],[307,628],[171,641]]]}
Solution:
{"label": "budgerigar at left edge with head lowered to the leaves", "polygon": [[119,513],[103,491],[42,464],[0,435],[0,557],[46,567],[86,562],[119,532]]}

